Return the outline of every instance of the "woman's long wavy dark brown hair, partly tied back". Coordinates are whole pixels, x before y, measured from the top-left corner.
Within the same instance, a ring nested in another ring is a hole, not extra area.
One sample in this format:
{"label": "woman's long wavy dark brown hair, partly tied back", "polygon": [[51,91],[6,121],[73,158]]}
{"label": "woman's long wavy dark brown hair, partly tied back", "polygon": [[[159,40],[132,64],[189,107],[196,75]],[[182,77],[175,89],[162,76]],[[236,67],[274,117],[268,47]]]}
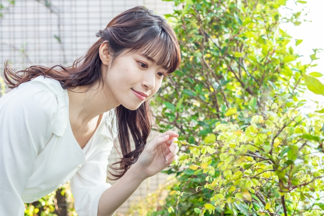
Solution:
{"label": "woman's long wavy dark brown hair, partly tied back", "polygon": [[[121,53],[142,52],[153,58],[159,51],[157,65],[164,67],[168,73],[174,72],[181,61],[177,36],[166,19],[154,14],[153,11],[138,6],[114,17],[107,27],[97,34],[100,37],[87,53],[74,61],[70,67],[55,65],[51,68],[34,65],[15,72],[5,63],[4,76],[8,87],[13,89],[21,83],[37,76],[50,77],[58,80],[63,89],[87,86],[89,91],[96,83],[103,87],[104,79],[101,71],[99,47],[105,42],[111,64]],[[58,67],[59,69],[55,69]],[[134,164],[147,142],[151,131],[149,103],[145,101],[136,110],[129,110],[123,105],[115,108],[118,127],[118,140],[123,158],[113,163],[110,168],[117,174],[109,173],[118,180]],[[131,137],[135,143],[132,151]],[[119,164],[118,168],[112,167]]]}

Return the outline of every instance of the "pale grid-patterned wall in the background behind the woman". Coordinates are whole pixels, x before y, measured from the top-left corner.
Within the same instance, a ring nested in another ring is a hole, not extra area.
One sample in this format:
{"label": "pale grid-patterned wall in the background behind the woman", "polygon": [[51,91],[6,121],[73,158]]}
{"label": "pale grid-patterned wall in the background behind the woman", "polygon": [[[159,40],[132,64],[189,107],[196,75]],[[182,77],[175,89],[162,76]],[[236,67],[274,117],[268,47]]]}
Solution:
{"label": "pale grid-patterned wall in the background behind the woman", "polygon": [[[0,0],[0,75],[7,59],[15,70],[31,65],[70,66],[98,39],[95,34],[99,29],[138,5],[159,15],[173,11],[171,2],[161,0]],[[113,148],[109,165],[118,157]],[[166,175],[157,174],[144,181],[118,209],[119,215],[134,198],[153,192],[166,179]]]}

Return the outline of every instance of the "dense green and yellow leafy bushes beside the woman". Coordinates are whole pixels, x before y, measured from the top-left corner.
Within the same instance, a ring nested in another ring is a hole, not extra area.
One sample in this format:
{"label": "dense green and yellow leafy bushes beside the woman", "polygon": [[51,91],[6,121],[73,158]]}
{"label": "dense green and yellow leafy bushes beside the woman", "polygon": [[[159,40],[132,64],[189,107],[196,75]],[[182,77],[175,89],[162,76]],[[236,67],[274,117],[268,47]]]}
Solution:
{"label": "dense green and yellow leafy bushes beside the woman", "polygon": [[324,117],[301,99],[305,85],[324,93],[320,74],[306,75],[319,50],[302,64],[279,28],[301,12],[283,17],[285,0],[174,2],[183,61],[153,114],[183,140],[166,171],[178,182],[148,215],[322,215]]}

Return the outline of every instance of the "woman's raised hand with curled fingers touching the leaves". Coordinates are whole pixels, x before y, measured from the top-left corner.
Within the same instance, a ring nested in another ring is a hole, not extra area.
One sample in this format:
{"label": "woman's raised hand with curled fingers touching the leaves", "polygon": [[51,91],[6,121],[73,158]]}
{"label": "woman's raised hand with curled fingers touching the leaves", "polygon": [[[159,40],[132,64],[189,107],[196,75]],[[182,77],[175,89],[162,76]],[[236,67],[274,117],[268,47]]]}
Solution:
{"label": "woman's raised hand with curled fingers touching the leaves", "polygon": [[161,170],[169,166],[172,161],[178,159],[179,147],[177,141],[179,135],[174,131],[167,131],[156,136],[143,150],[137,162],[136,167],[139,178],[142,181],[148,177],[154,176]]}

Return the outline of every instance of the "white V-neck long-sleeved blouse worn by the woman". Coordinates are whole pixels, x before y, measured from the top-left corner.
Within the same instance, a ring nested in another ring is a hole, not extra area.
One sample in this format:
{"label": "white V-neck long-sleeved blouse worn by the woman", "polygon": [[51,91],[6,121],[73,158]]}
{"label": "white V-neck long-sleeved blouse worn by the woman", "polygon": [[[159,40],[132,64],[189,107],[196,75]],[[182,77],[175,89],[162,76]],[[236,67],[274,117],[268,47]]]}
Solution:
{"label": "white V-neck long-sleeved blouse worn by the woman", "polygon": [[117,136],[113,110],[84,149],[69,122],[67,90],[38,76],[0,98],[0,215],[24,215],[24,203],[70,180],[79,216],[97,215],[106,183],[108,155]]}

